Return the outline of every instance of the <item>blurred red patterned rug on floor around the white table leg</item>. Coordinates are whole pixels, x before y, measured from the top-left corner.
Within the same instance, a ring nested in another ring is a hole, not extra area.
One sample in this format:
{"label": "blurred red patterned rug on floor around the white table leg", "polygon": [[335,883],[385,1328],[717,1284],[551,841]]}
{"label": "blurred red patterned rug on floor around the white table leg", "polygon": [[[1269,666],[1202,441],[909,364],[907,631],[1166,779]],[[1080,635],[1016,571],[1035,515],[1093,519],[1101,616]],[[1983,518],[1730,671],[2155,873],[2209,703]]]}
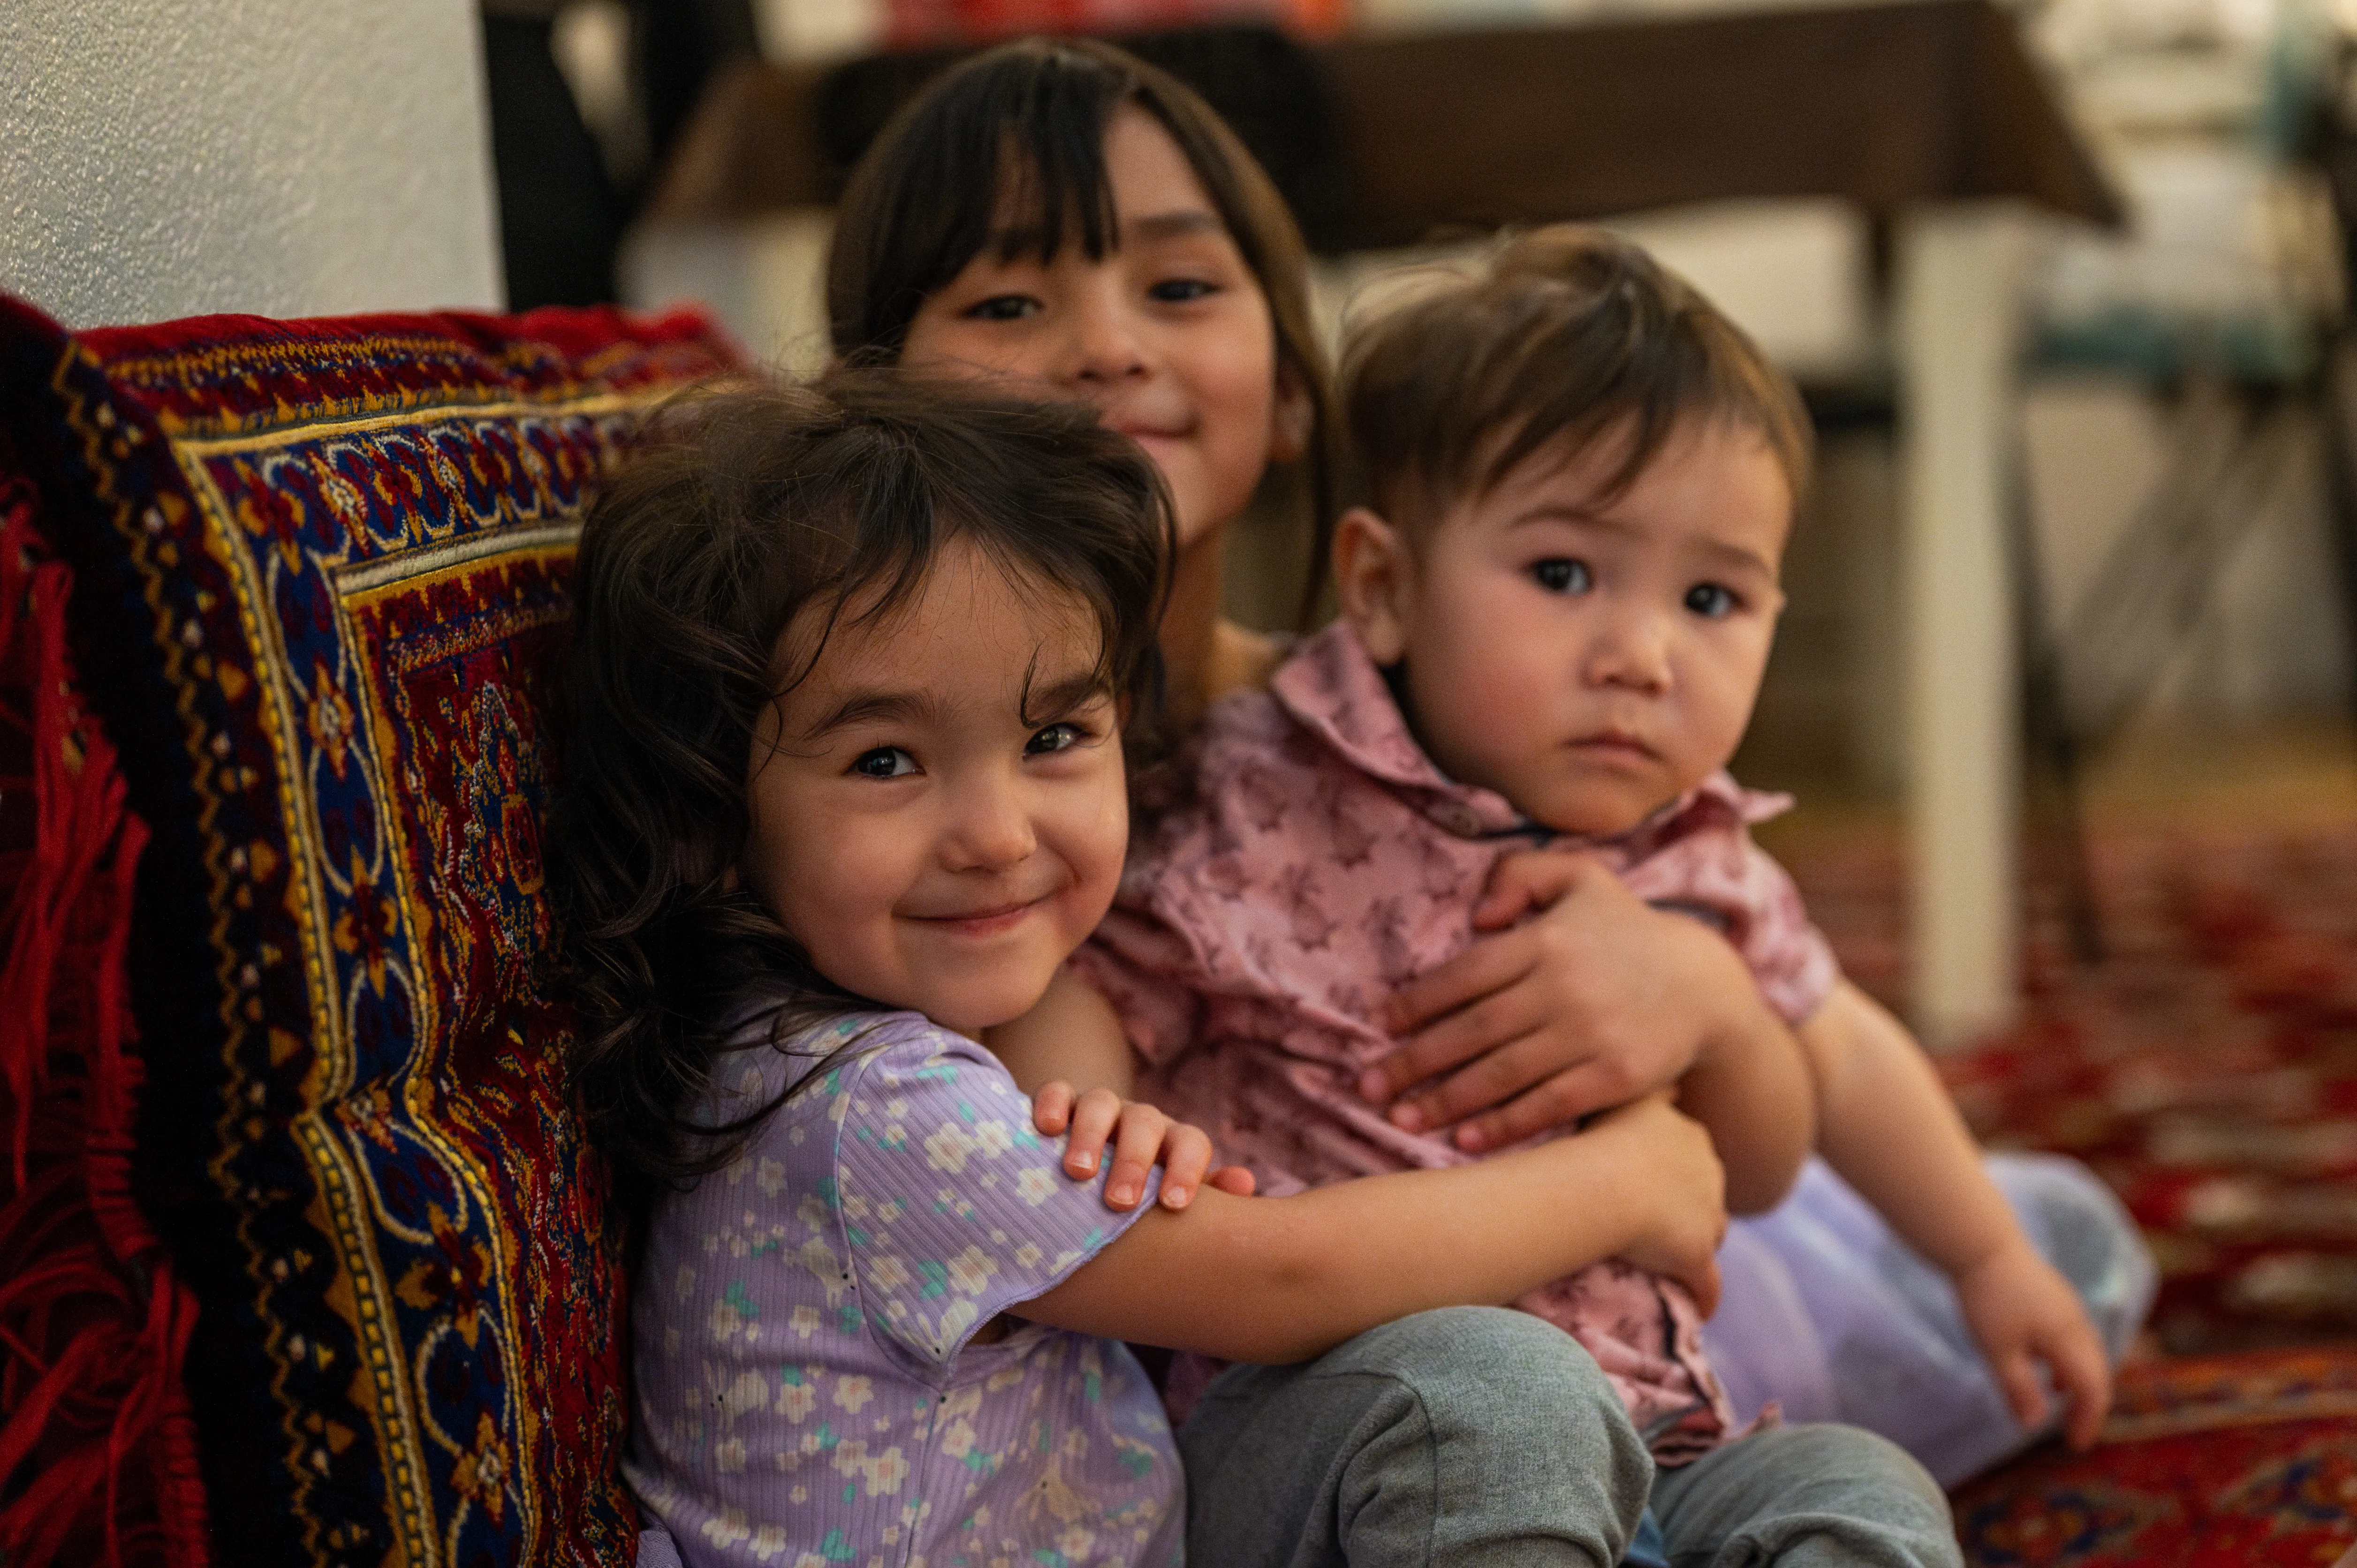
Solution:
{"label": "blurred red patterned rug on floor around the white table leg", "polygon": [[[1860,986],[1900,1000],[1900,865],[1791,868]],[[2161,1349],[2357,1337],[2357,823],[2100,837],[2105,957],[2034,889],[2025,1019],[1942,1059],[1985,1141],[2086,1160],[2161,1264]]]}

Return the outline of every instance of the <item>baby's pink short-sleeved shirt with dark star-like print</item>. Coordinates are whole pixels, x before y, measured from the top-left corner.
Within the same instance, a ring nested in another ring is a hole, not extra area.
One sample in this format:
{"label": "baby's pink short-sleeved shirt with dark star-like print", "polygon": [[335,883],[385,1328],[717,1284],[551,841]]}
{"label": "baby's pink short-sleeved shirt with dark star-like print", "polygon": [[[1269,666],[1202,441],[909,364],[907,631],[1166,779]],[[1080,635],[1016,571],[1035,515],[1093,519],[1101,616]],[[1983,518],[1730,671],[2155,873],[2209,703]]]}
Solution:
{"label": "baby's pink short-sleeved shirt with dark star-like print", "polygon": [[[1791,879],[1747,832],[1784,797],[1718,773],[1626,835],[1551,835],[1433,766],[1346,625],[1306,641],[1266,693],[1219,703],[1178,776],[1193,795],[1131,846],[1120,901],[1075,964],[1146,1059],[1141,1092],[1270,1195],[1471,1158],[1400,1132],[1351,1085],[1395,1045],[1379,1023],[1391,993],[1471,943],[1511,849],[1577,844],[1648,903],[1709,920],[1794,1023],[1838,979]],[[1605,1261],[1516,1306],[1596,1356],[1657,1460],[1725,1438],[1732,1410],[1683,1287]]]}

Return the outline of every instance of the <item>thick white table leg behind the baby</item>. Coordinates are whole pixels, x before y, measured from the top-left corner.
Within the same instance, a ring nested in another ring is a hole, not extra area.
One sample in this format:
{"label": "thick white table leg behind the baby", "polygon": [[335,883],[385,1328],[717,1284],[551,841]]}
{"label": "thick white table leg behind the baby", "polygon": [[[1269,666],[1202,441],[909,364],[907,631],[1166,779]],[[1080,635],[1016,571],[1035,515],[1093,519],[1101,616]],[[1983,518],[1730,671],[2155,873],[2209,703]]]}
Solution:
{"label": "thick white table leg behind the baby", "polygon": [[2020,1007],[2020,686],[2006,507],[2027,222],[1904,219],[1897,250],[1900,606],[1914,1023],[1963,1045]]}

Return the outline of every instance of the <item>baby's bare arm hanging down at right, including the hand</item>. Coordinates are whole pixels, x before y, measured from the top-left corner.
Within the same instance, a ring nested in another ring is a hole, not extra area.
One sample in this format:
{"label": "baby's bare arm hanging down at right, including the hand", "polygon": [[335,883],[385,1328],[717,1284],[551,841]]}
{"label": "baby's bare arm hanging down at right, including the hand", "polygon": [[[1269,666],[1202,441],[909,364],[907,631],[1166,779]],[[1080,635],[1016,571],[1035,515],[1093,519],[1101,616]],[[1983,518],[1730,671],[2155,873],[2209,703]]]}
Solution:
{"label": "baby's bare arm hanging down at right, including the hand", "polygon": [[2044,1361],[2077,1448],[2095,1441],[2112,1375],[2077,1292],[2022,1236],[1923,1047],[1843,981],[1801,1026],[1817,1075],[1817,1148],[1909,1247],[1956,1280],[1963,1318],[2025,1427],[2046,1417]]}

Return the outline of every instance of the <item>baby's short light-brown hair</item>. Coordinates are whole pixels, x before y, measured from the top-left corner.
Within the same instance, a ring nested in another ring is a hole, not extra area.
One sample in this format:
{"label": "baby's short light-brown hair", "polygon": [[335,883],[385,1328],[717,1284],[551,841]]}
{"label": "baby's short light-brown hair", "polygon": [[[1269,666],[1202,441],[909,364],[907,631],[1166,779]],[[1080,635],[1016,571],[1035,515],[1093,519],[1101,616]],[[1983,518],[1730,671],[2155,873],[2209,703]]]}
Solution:
{"label": "baby's short light-brown hair", "polygon": [[1690,283],[1598,229],[1532,229],[1351,337],[1343,406],[1374,507],[1414,535],[1546,448],[1626,429],[1615,495],[1683,417],[1751,427],[1794,502],[1810,424],[1791,377]]}

